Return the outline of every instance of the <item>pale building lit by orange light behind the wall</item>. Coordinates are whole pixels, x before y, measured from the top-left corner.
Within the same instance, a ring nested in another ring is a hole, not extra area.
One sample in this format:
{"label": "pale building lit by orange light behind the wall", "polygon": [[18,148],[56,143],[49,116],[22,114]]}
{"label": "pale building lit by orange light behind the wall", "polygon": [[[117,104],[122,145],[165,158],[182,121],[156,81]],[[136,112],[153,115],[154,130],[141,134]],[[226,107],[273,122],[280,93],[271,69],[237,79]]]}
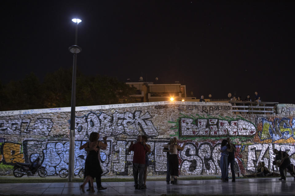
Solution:
{"label": "pale building lit by orange light behind the wall", "polygon": [[137,102],[155,101],[186,101],[186,86],[175,84],[154,84],[153,82],[126,82],[137,89],[137,93],[132,95]]}

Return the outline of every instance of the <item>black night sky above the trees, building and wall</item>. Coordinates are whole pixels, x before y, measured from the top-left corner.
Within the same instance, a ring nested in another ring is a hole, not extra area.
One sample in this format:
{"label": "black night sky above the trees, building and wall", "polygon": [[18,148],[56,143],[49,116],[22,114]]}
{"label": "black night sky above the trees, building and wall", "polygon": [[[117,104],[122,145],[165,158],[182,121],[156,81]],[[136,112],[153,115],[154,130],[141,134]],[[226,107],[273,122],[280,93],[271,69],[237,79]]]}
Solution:
{"label": "black night sky above the trees, building and wall", "polygon": [[199,98],[247,94],[293,103],[294,3],[249,1],[5,1],[1,81],[42,79],[72,67],[84,74],[187,85]]}

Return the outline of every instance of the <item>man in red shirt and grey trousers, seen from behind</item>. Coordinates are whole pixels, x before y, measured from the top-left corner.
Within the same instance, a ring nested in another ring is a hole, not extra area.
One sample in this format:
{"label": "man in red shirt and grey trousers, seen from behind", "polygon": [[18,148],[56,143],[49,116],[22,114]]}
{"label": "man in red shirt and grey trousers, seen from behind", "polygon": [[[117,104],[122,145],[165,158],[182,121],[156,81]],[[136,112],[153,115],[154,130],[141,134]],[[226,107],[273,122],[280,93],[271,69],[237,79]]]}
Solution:
{"label": "man in red shirt and grey trousers, seen from behind", "polygon": [[[145,153],[148,152],[148,147],[141,141],[141,135],[137,136],[136,143],[129,146],[128,152],[134,151],[133,154],[133,178],[135,189],[144,189],[144,167]],[[139,175],[139,176],[138,176]]]}

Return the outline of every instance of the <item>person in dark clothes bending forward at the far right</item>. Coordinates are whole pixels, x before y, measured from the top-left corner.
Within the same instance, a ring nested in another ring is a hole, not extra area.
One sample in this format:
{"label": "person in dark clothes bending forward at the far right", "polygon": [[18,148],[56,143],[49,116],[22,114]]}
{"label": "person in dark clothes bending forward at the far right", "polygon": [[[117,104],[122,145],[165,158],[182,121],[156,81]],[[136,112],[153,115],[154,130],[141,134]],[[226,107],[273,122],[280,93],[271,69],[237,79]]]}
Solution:
{"label": "person in dark clothes bending forward at the far right", "polygon": [[293,171],[293,168],[291,167],[291,161],[289,159],[289,154],[285,151],[278,151],[277,149],[273,149],[273,153],[276,154],[275,161],[277,162],[276,165],[279,167],[279,171],[281,174],[281,178],[279,180],[286,180],[284,170],[287,168],[289,171]]}

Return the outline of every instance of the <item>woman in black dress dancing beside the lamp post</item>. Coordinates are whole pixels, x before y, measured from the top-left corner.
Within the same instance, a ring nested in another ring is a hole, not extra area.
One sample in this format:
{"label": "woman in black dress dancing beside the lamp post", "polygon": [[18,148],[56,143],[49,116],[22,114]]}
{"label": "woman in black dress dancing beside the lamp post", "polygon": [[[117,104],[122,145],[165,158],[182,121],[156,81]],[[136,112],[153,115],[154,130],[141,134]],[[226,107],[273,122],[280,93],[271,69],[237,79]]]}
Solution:
{"label": "woman in black dress dancing beside the lamp post", "polygon": [[96,176],[99,176],[102,174],[102,170],[101,170],[101,167],[100,167],[100,163],[99,163],[99,160],[98,160],[98,152],[99,151],[96,151],[94,150],[95,148],[99,147],[98,146],[98,141],[99,139],[99,133],[97,132],[92,132],[89,136],[89,142],[88,142],[88,145],[89,145],[89,148],[90,149],[93,149],[89,152],[89,154],[87,155],[87,158],[86,158],[86,161],[85,161],[85,180],[84,180],[84,183],[80,186],[82,192],[84,193],[84,187],[85,187],[85,184],[88,183],[88,181],[90,180],[90,184],[91,184],[91,191],[92,192],[95,192],[94,191],[94,187],[93,187],[93,179],[96,177]]}

